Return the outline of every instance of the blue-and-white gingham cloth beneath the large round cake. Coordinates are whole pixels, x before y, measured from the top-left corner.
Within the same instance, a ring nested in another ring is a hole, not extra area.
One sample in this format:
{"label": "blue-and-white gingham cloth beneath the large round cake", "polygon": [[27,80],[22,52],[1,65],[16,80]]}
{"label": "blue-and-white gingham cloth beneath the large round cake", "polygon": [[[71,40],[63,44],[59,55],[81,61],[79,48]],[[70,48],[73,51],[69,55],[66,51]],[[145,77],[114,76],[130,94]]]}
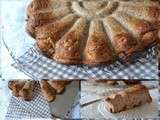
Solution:
{"label": "blue-and-white gingham cloth beneath the large round cake", "polygon": [[155,54],[152,48],[130,65],[116,62],[104,67],[69,66],[44,57],[36,47],[32,47],[15,59],[13,66],[33,79],[158,79]]}

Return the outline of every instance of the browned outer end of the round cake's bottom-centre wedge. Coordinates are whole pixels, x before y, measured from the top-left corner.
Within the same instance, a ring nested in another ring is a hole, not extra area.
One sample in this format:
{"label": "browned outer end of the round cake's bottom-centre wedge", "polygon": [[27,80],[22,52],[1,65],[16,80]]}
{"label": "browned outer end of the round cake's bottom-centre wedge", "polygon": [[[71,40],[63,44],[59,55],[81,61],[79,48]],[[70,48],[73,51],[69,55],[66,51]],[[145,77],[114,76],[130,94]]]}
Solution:
{"label": "browned outer end of the round cake's bottom-centre wedge", "polygon": [[105,33],[93,33],[84,52],[84,64],[94,65],[114,62],[113,52],[108,46]]}

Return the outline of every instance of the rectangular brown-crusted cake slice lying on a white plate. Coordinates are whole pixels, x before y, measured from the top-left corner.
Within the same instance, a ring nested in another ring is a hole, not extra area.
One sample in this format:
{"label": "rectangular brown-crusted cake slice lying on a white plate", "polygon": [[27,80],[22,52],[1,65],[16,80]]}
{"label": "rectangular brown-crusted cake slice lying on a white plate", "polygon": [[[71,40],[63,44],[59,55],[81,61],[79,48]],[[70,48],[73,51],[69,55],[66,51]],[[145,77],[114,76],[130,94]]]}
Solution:
{"label": "rectangular brown-crusted cake slice lying on a white plate", "polygon": [[141,84],[134,85],[124,91],[112,94],[105,99],[106,107],[111,113],[121,112],[145,103],[150,103],[152,98],[148,89]]}

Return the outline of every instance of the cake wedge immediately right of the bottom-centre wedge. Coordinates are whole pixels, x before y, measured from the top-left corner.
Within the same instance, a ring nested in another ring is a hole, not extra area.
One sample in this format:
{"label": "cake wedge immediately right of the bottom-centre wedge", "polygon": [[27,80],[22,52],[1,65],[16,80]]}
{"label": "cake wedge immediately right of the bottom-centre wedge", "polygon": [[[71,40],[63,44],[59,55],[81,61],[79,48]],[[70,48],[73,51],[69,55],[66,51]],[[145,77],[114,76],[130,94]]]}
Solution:
{"label": "cake wedge immediately right of the bottom-centre wedge", "polygon": [[110,44],[123,61],[130,61],[139,52],[139,44],[113,17],[103,20],[105,29],[110,37]]}

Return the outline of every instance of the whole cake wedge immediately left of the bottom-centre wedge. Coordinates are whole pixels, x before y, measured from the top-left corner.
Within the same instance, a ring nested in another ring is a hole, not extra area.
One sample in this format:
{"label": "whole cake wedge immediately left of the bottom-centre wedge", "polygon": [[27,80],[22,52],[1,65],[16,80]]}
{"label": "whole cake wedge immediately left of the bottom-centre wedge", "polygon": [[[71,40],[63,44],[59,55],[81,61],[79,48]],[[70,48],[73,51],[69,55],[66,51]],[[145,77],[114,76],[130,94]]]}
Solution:
{"label": "whole cake wedge immediately left of the bottom-centre wedge", "polygon": [[82,63],[82,51],[86,42],[87,20],[79,18],[74,26],[57,43],[54,59],[64,64]]}

